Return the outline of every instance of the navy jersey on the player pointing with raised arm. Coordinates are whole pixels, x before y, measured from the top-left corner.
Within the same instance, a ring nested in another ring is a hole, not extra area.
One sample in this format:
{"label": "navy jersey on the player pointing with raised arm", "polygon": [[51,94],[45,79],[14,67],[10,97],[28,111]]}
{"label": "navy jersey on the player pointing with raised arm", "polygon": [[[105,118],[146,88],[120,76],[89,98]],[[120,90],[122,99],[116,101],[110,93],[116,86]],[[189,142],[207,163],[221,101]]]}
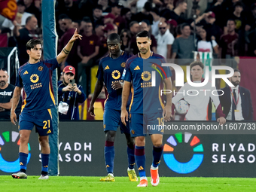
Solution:
{"label": "navy jersey on the player pointing with raised arm", "polygon": [[55,100],[51,76],[59,66],[56,58],[30,64],[27,62],[19,68],[16,86],[23,87],[26,99],[23,111],[40,111],[53,108]]}

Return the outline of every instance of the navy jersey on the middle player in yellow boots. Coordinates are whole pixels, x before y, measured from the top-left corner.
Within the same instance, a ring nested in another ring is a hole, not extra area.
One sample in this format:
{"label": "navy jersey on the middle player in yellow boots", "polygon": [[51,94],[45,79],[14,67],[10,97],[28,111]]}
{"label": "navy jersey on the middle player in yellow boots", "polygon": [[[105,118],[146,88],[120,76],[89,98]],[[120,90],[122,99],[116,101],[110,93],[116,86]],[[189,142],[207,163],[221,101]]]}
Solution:
{"label": "navy jersey on the middle player in yellow boots", "polygon": [[114,90],[111,85],[114,82],[123,81],[121,77],[126,65],[126,60],[129,59],[129,57],[130,55],[128,53],[122,52],[116,59],[113,59],[111,54],[108,54],[99,61],[99,69],[96,77],[99,81],[104,81],[105,87],[108,90],[108,99],[105,102],[105,109],[121,109],[122,89]]}

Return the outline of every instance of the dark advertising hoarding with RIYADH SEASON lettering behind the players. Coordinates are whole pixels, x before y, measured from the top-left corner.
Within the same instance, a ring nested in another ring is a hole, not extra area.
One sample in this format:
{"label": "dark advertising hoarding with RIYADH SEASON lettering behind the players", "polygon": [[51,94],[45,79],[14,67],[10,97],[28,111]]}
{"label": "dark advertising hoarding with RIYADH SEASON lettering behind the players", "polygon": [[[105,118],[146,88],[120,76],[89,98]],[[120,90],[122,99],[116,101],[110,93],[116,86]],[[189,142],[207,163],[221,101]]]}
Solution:
{"label": "dark advertising hoarding with RIYADH SEASON lettering behind the players", "polygon": [[[180,122],[181,123],[181,122]],[[211,123],[211,122],[197,122]],[[253,123],[253,122],[251,122]],[[19,170],[17,126],[1,121],[0,175]],[[196,122],[190,122],[196,124]],[[161,176],[192,177],[255,177],[255,135],[200,134],[191,130],[173,130],[163,134]],[[125,137],[117,132],[114,175],[126,176],[127,154]],[[147,174],[151,165],[152,146],[147,137]],[[38,137],[33,131],[29,140],[31,157],[27,173],[41,172]],[[59,122],[59,175],[105,175],[105,134],[102,121]],[[17,169],[17,170],[16,170]],[[50,169],[50,167],[49,167]]]}

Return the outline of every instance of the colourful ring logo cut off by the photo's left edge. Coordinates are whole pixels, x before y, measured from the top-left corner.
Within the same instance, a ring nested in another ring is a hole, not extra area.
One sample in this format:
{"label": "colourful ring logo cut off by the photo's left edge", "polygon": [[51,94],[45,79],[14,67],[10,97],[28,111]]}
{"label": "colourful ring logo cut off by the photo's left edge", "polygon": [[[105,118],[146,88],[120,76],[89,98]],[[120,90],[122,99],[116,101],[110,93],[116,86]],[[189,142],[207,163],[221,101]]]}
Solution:
{"label": "colourful ring logo cut off by the photo's left edge", "polygon": [[[19,133],[16,131],[6,131],[2,133],[2,136],[0,136],[0,170],[2,172],[18,172],[20,171],[20,159],[18,158],[15,161],[7,161],[2,157],[2,151],[3,148],[6,147],[6,144],[8,142],[17,142],[17,145],[20,145],[20,139],[17,141],[19,137]],[[28,144],[29,145],[29,144]],[[30,151],[30,145],[29,145],[29,151]],[[9,153],[12,153],[11,149],[8,151]],[[30,160],[31,154],[29,153],[28,157],[28,163]]]}

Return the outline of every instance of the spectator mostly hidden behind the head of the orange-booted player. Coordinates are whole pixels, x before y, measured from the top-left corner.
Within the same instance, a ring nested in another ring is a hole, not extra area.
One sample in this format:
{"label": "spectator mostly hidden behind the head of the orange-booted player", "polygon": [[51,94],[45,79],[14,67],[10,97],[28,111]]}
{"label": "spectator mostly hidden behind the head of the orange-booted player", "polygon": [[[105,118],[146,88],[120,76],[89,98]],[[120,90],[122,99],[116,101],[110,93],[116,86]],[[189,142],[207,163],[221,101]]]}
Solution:
{"label": "spectator mostly hidden behind the head of the orange-booted player", "polygon": [[[144,20],[142,22],[139,23],[139,32],[142,31],[148,31],[150,30],[150,26],[149,26],[149,21],[148,20]],[[133,50],[133,54],[137,54],[139,53],[139,49],[136,43],[136,37],[133,36],[133,41],[131,41],[131,49]],[[154,53],[157,53],[157,40],[154,37],[154,35],[151,35],[151,50]]]}

